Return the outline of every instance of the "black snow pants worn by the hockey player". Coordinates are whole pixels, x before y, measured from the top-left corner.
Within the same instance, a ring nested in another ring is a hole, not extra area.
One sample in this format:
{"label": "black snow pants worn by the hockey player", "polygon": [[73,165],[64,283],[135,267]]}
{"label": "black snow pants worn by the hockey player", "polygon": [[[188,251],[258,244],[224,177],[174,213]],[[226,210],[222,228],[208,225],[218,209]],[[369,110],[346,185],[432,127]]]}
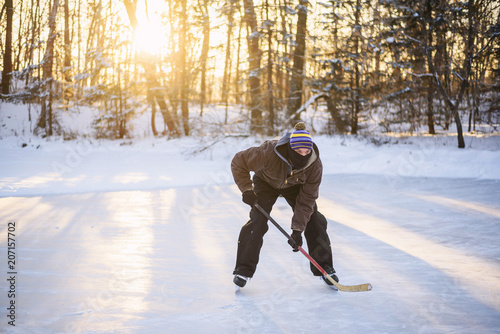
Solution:
{"label": "black snow pants worn by the hockey player", "polygon": [[[281,195],[288,204],[295,208],[295,199],[300,191],[301,185],[292,186],[285,189],[275,189],[259,177],[254,176],[254,191],[257,193],[258,204],[267,213]],[[332,248],[330,238],[326,232],[327,222],[325,216],[318,212],[316,203],[314,212],[307,223],[304,236],[307,242],[307,248],[311,257],[322,267],[332,267]],[[236,254],[236,267],[234,274],[240,274],[246,277],[253,277],[257,264],[259,262],[260,249],[263,244],[263,237],[268,230],[267,218],[256,208],[250,211],[250,220],[243,225],[238,238],[238,251]],[[286,242],[286,238],[283,238]],[[314,276],[321,276],[314,265],[311,264],[311,271]]]}

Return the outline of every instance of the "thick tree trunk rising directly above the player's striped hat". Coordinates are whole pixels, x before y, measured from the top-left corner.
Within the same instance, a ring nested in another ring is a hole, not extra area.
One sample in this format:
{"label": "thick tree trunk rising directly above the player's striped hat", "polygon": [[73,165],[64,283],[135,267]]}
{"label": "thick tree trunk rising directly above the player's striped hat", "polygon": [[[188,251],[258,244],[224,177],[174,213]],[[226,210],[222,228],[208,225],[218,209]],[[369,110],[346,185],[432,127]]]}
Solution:
{"label": "thick tree trunk rising directly above the player's striped hat", "polygon": [[[306,53],[307,32],[307,0],[300,0],[297,17],[297,34],[295,37],[295,50],[293,52],[292,81],[290,82],[290,95],[288,99],[287,116],[291,117],[302,105],[302,89],[304,81],[304,64]],[[290,119],[293,126],[300,119],[300,115]]]}

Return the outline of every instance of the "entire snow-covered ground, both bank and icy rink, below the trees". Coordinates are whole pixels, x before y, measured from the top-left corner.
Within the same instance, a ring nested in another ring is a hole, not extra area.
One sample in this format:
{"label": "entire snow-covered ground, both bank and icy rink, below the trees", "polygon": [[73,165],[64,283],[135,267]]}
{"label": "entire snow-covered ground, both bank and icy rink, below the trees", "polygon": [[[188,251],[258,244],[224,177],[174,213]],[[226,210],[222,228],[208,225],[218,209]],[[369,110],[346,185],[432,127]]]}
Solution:
{"label": "entire snow-covered ground, both bank and icy rink, below the trees", "polygon": [[[229,162],[263,139],[196,153],[198,139],[151,138],[138,124],[133,140],[40,139],[20,108],[0,109],[4,282],[11,221],[17,260],[16,326],[1,284],[2,332],[500,333],[498,135],[467,135],[463,150],[447,134],[315,135],[335,268],[373,290],[328,289],[271,225],[235,293],[248,207]],[[66,121],[90,134],[90,119]],[[285,201],[272,216],[288,228]]]}

